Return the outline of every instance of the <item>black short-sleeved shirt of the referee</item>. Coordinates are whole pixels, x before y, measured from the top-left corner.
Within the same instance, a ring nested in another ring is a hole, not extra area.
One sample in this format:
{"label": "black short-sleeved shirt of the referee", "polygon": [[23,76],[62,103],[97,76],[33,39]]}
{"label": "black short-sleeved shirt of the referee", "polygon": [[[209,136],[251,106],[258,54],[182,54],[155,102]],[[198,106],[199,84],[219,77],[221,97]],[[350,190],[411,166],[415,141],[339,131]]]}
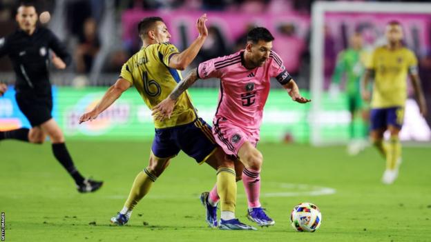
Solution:
{"label": "black short-sleeved shirt of the referee", "polygon": [[47,28],[36,28],[32,35],[19,29],[0,39],[0,57],[8,54],[12,61],[17,76],[17,92],[32,92],[38,96],[51,94],[48,73],[50,49],[69,65],[71,57],[66,46]]}

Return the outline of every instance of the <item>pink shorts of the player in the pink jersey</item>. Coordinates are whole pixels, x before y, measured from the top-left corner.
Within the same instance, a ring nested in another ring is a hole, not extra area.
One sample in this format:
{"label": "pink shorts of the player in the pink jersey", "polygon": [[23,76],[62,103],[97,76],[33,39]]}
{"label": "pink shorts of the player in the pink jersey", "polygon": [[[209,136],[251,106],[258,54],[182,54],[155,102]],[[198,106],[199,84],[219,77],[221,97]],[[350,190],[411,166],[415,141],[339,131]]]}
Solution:
{"label": "pink shorts of the player in the pink jersey", "polygon": [[259,141],[258,133],[247,132],[224,118],[213,120],[213,136],[215,142],[220,145],[226,154],[235,156],[238,156],[238,150],[240,150],[245,141],[249,141],[255,147]]}

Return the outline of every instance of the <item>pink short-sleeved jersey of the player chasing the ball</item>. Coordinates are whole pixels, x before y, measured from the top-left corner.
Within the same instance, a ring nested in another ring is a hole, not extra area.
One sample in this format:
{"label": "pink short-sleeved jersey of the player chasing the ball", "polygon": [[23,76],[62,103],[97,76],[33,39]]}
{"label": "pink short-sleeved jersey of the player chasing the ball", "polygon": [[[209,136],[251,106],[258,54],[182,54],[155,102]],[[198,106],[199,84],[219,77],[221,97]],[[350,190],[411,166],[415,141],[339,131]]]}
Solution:
{"label": "pink short-sleeved jersey of the player chasing the ball", "polygon": [[274,51],[263,66],[252,70],[245,68],[243,54],[244,50],[240,50],[229,56],[204,61],[198,65],[198,75],[200,79],[220,79],[214,123],[222,119],[242,130],[258,134],[271,86],[270,78],[276,77],[281,84],[285,84],[291,77]]}

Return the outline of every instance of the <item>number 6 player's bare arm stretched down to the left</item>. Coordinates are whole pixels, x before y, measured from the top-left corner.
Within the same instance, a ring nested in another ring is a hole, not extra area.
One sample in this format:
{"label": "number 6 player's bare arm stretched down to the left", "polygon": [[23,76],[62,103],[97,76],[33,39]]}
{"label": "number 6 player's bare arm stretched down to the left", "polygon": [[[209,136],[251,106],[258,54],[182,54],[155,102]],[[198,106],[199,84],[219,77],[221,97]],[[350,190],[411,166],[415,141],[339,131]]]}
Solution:
{"label": "number 6 player's bare arm stretched down to the left", "polygon": [[131,87],[131,85],[132,84],[125,79],[118,79],[115,84],[112,85],[111,88],[108,89],[108,91],[106,91],[102,100],[97,103],[93,110],[91,110],[90,112],[86,112],[82,114],[81,117],[79,117],[79,123],[84,123],[86,121],[92,121],[93,119],[96,119],[100,113],[106,110],[106,108],[109,108],[109,106],[111,106],[124,91]]}

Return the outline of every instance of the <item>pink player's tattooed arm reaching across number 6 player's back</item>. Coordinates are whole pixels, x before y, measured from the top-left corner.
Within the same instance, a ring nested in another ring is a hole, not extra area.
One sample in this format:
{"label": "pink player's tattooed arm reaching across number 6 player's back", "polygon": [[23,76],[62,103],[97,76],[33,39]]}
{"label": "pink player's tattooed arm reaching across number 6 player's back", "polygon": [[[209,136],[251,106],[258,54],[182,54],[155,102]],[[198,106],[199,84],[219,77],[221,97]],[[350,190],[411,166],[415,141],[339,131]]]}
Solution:
{"label": "pink player's tattooed arm reaching across number 6 player's back", "polygon": [[195,81],[198,80],[198,69],[194,68],[187,74],[187,77],[182,79],[180,83],[175,87],[175,89],[169,94],[166,99],[161,101],[159,104],[155,105],[155,107],[152,109],[153,112],[151,115],[155,116],[155,119],[163,120],[171,118],[171,114],[173,112],[173,108],[175,107],[175,102],[177,101],[178,97],[187,90]]}

